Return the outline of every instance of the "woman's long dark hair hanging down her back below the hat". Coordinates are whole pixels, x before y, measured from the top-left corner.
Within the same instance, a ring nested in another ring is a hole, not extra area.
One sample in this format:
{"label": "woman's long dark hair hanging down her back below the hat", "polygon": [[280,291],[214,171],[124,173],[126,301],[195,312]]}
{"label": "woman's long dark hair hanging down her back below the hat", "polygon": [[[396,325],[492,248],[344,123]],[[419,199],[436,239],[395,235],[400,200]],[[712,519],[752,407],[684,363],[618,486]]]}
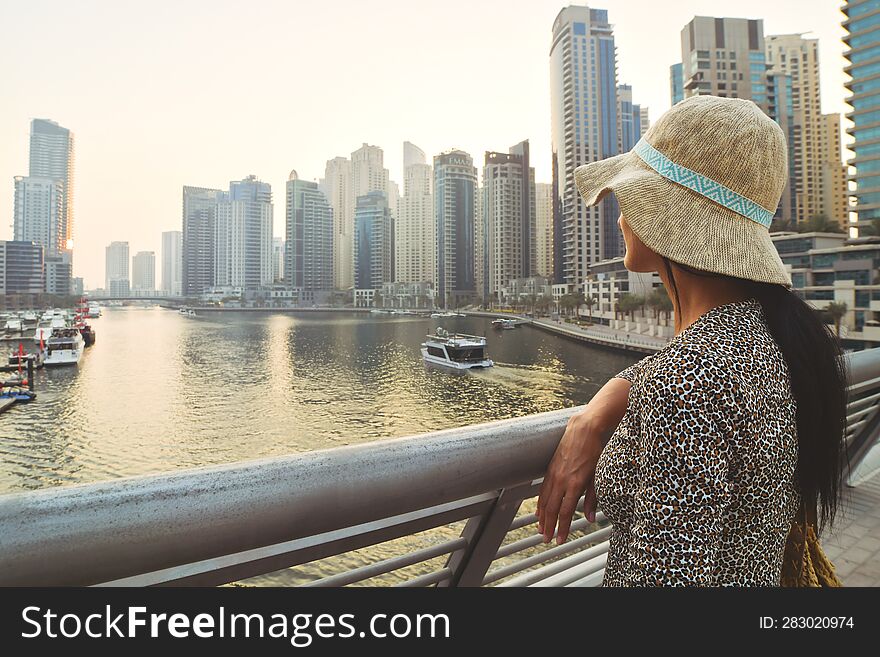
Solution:
{"label": "woman's long dark hair hanging down her back below the hat", "polygon": [[[663,257],[680,315],[678,287],[668,258]],[[788,364],[791,390],[797,403],[798,480],[808,509],[816,508],[817,531],[834,524],[844,463],[849,467],[845,431],[847,404],[846,360],[840,341],[819,311],[783,285],[748,281],[694,269],[676,267],[697,276],[726,278],[742,283],[761,302],[767,327]]]}

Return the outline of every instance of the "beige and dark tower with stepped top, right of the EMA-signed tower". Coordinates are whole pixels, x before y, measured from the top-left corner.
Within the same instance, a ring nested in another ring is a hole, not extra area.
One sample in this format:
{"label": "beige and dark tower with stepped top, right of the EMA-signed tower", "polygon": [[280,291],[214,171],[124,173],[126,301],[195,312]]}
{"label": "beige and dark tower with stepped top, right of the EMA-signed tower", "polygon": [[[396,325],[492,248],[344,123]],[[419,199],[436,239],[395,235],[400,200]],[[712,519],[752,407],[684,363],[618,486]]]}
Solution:
{"label": "beige and dark tower with stepped top, right of the EMA-signed tower", "polygon": [[535,272],[535,170],[529,142],[509,153],[486,152],[482,187],[482,298]]}

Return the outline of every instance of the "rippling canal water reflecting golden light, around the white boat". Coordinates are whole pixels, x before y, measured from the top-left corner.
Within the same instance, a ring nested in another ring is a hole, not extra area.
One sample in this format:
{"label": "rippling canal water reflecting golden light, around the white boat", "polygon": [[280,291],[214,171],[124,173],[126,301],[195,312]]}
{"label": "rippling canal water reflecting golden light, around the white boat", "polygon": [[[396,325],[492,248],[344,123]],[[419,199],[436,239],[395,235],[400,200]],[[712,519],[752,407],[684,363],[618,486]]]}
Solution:
{"label": "rippling canal water reflecting golden light, around the white boat", "polygon": [[[529,415],[586,403],[637,358],[485,318],[107,308],[76,367],[0,415],[0,493],[94,482]],[[429,369],[443,326],[496,366]],[[375,550],[374,550],[375,553]],[[287,581],[287,580],[283,580]]]}

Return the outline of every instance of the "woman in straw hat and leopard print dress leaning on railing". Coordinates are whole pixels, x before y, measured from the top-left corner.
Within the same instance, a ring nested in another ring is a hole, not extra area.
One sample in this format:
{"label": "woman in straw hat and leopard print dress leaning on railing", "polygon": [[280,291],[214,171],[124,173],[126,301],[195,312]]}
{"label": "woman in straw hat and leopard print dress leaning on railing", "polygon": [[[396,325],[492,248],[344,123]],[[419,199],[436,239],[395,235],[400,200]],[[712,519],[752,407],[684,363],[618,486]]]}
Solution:
{"label": "woman in straw hat and leopard print dress leaning on railing", "polygon": [[603,586],[778,586],[800,505],[833,523],[846,372],[769,236],[787,170],[757,105],[695,96],[574,171],[587,206],[614,193],[624,265],[659,272],[675,311],[670,342],[571,418],[539,495],[545,543],[585,492],[611,520]]}

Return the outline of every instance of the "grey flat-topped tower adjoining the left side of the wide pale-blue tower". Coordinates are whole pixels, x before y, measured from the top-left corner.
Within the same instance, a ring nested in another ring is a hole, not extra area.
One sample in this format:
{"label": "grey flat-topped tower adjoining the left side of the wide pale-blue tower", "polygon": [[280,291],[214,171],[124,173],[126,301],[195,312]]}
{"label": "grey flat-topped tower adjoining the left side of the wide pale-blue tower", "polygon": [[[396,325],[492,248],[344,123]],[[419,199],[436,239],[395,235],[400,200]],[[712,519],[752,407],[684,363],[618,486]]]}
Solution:
{"label": "grey flat-topped tower adjoining the left side of the wide pale-blue tower", "polygon": [[215,284],[217,205],[226,192],[183,188],[183,296],[197,297]]}

